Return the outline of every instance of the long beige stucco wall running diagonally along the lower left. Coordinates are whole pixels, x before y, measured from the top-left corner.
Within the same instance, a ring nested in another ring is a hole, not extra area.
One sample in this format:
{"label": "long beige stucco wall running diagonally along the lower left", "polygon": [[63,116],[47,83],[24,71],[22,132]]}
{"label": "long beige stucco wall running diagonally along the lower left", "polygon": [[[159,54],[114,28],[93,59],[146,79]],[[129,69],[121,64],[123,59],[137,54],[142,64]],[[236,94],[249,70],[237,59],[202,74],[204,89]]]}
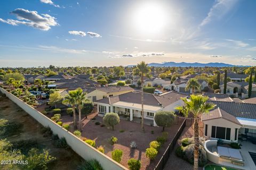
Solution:
{"label": "long beige stucco wall running diagonally along the lower left", "polygon": [[112,169],[126,169],[121,164],[114,162],[111,158],[107,157],[106,155],[102,154],[97,149],[91,147],[81,139],[77,138],[73,133],[70,133],[66,129],[63,129],[58,124],[54,123],[50,118],[46,117],[42,113],[38,112],[33,107],[29,106],[28,104],[24,103],[19,98],[15,97],[14,95],[10,94],[9,92],[5,91],[3,88],[0,88],[0,91],[5,94],[10,100],[12,100],[15,104],[20,106],[24,111],[26,111],[30,116],[35,118],[39,123],[43,126],[49,126],[53,133],[58,134],[59,138],[64,137],[68,143],[68,145],[82,158],[89,160],[89,159],[97,159],[101,166],[105,170],[112,170]]}

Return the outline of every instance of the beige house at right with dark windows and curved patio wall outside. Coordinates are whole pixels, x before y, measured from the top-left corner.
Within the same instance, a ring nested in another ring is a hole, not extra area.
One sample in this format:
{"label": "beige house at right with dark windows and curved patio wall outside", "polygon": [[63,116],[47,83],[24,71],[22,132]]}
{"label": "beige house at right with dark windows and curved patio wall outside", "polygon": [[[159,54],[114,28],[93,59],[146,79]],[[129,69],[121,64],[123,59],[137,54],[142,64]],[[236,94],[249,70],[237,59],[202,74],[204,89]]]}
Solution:
{"label": "beige house at right with dark windows and curved patio wall outside", "polygon": [[217,105],[202,115],[205,137],[238,142],[238,134],[256,137],[256,104],[214,101]]}

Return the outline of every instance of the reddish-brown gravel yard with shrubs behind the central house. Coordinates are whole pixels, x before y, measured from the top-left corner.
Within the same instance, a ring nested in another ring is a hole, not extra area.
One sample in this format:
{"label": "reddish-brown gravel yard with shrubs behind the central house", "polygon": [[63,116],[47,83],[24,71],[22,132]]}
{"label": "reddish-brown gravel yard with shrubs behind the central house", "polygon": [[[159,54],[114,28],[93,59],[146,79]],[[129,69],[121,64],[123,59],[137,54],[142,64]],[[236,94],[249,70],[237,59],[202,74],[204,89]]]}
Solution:
{"label": "reddish-brown gravel yard with shrubs behind the central house", "polygon": [[[73,117],[61,116],[61,122],[63,124],[71,124]],[[82,139],[92,139],[95,140],[95,148],[103,146],[105,149],[105,154],[111,158],[111,151],[114,149],[123,150],[123,157],[121,164],[128,167],[127,161],[130,158],[135,158],[141,160],[141,169],[154,169],[157,165],[159,159],[163,155],[165,149],[168,146],[168,143],[171,142],[175,133],[180,128],[180,125],[183,121],[183,118],[179,119],[179,125],[173,124],[170,128],[166,128],[168,132],[167,141],[159,149],[156,158],[150,162],[146,157],[145,151],[149,148],[149,143],[156,140],[157,137],[162,135],[162,128],[153,127],[145,125],[145,133],[141,131],[141,124],[120,120],[120,123],[115,126],[115,130],[107,126],[102,126],[103,120],[102,117],[99,117],[97,113],[90,114],[87,119],[83,117],[83,132]],[[99,123],[97,123],[99,122]],[[99,125],[96,125],[99,124]],[[74,130],[70,130],[74,131]],[[117,143],[112,145],[110,142],[111,137],[116,137],[118,139]],[[137,143],[137,149],[130,149],[130,143],[135,141]]]}

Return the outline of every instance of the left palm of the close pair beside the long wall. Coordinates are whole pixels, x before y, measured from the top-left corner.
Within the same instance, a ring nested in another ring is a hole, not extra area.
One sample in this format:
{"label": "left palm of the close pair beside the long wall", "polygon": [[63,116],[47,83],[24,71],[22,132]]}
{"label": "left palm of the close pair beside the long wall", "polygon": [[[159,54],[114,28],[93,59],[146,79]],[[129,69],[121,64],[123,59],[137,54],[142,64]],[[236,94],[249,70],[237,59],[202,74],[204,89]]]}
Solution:
{"label": "left palm of the close pair beside the long wall", "polygon": [[71,107],[73,108],[74,129],[77,129],[77,125],[76,125],[76,104],[77,104],[76,90],[68,91],[68,95],[65,96],[62,103],[71,105]]}

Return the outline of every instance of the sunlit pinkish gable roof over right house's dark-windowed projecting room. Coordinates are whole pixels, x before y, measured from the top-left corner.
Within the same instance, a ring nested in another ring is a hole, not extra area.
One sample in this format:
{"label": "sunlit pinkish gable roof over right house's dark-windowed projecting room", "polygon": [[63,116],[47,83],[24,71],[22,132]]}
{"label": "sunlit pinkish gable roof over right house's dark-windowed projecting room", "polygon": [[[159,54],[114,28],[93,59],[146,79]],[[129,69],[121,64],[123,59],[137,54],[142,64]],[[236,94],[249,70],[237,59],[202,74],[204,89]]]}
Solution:
{"label": "sunlit pinkish gable roof over right house's dark-windowed projecting room", "polygon": [[207,114],[202,114],[202,121],[213,120],[216,118],[224,118],[230,122],[241,125],[235,116],[223,111],[219,107],[213,109]]}

